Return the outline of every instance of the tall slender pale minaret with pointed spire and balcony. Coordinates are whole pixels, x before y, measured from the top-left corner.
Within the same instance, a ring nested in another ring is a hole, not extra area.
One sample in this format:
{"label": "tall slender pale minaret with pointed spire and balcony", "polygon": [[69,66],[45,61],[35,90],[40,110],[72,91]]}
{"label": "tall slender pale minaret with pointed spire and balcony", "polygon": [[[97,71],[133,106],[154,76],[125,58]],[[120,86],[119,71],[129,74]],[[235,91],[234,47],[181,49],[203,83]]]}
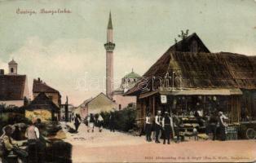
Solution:
{"label": "tall slender pale minaret with pointed spire and balcony", "polygon": [[115,44],[113,43],[113,26],[111,20],[111,12],[109,12],[107,43],[104,44],[106,49],[106,95],[112,99],[113,93],[113,51]]}

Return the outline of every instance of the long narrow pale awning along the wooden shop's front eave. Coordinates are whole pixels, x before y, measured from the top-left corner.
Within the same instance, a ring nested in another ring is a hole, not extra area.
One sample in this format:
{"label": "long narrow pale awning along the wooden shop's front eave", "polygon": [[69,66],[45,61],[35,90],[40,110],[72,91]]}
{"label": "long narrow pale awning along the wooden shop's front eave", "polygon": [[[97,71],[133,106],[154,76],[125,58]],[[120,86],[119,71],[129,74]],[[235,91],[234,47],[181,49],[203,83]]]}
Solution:
{"label": "long narrow pale awning along the wooden shop's front eave", "polygon": [[240,89],[159,90],[161,95],[242,95]]}

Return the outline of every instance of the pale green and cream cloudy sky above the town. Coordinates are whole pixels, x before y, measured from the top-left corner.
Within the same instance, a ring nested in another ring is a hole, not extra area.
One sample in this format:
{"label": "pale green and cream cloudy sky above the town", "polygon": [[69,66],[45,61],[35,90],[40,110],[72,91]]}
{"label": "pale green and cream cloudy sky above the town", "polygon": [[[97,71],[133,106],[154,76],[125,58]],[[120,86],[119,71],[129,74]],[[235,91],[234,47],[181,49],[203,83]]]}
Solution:
{"label": "pale green and cream cloudy sky above the town", "polygon": [[[40,13],[66,10],[71,13]],[[108,13],[112,12],[115,87],[143,75],[181,30],[211,52],[256,55],[256,0],[0,0],[0,68],[40,77],[75,106],[104,90]],[[35,11],[37,14],[20,14]]]}

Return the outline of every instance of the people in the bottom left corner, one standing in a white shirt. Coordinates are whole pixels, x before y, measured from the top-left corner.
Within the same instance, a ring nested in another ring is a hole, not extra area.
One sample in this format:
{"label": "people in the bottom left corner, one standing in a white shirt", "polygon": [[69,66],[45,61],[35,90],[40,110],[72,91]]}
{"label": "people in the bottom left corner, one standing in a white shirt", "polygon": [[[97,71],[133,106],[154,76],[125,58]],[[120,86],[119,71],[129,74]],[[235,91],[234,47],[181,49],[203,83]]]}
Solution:
{"label": "people in the bottom left corner, one standing in a white shirt", "polygon": [[[17,141],[14,138],[19,138],[20,128],[19,126],[5,126],[2,128],[2,136],[0,137],[0,142],[2,143],[2,162],[7,160],[7,157],[17,156],[18,160],[25,163],[28,161],[28,156],[33,156],[32,152],[36,152],[36,157],[33,159],[35,162],[44,162],[46,153],[46,138],[40,134],[39,126],[41,124],[40,119],[33,118],[29,121],[29,126],[27,127],[24,136],[26,140]],[[49,142],[48,142],[49,143]],[[20,148],[20,146],[24,148]],[[36,159],[36,160],[35,160]]]}

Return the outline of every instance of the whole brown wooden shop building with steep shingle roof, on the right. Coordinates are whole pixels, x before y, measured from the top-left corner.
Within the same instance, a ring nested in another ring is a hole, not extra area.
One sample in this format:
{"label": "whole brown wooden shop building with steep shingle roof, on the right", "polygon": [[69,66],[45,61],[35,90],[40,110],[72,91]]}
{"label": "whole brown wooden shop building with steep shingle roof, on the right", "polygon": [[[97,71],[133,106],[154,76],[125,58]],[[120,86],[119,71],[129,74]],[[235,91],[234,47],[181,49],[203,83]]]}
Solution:
{"label": "whole brown wooden shop building with steep shingle roof, on the right", "polygon": [[[175,43],[125,95],[137,96],[137,117],[146,112],[176,112],[202,108],[205,115],[223,111],[229,123],[256,119],[256,57],[228,52],[210,53],[192,33]],[[161,99],[166,104],[161,104]]]}

